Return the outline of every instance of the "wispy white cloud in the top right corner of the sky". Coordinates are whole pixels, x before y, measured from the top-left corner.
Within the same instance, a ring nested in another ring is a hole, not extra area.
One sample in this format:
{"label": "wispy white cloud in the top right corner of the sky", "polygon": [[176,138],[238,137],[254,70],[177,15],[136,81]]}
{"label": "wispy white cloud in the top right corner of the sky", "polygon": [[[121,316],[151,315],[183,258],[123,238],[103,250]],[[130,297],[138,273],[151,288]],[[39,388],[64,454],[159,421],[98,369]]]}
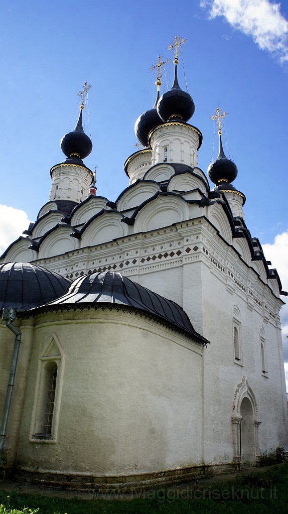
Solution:
{"label": "wispy white cloud in the top right corner of the sky", "polygon": [[280,3],[269,0],[200,0],[209,16],[224,16],[244,34],[251,35],[261,50],[273,53],[281,63],[288,62],[288,21]]}

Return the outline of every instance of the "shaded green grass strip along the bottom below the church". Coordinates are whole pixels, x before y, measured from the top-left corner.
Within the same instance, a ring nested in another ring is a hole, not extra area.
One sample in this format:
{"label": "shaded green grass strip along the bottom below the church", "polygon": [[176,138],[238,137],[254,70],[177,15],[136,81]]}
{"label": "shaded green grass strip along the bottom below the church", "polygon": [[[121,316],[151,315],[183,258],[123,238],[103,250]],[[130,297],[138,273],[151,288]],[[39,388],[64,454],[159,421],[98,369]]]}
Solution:
{"label": "shaded green grass strip along the bottom below the church", "polygon": [[287,502],[288,464],[282,464],[265,473],[204,488],[191,485],[182,490],[165,487],[146,491],[144,499],[119,501],[112,495],[110,500],[62,499],[0,491],[0,514],[275,514],[286,512]]}

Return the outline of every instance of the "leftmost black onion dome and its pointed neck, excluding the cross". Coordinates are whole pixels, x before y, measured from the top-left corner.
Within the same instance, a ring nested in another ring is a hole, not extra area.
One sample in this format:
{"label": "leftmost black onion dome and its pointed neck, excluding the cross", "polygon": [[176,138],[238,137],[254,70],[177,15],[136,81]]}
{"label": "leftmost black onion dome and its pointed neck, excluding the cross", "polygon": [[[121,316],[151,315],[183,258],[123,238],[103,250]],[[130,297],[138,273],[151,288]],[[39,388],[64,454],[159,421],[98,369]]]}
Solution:
{"label": "leftmost black onion dome and its pointed neck, excluding the cross", "polygon": [[61,150],[68,158],[74,154],[79,159],[84,159],[91,153],[92,141],[85,134],[82,126],[82,109],[74,130],[61,139]]}

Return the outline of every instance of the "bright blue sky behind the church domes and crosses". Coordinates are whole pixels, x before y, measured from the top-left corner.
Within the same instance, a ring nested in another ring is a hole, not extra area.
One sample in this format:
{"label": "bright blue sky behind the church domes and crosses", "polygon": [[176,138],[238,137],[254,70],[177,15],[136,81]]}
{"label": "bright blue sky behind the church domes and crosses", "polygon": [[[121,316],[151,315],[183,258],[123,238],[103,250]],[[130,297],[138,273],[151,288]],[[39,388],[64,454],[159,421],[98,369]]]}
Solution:
{"label": "bright blue sky behind the church domes and crosses", "polygon": [[[178,33],[187,38],[184,69],[196,105],[190,123],[203,134],[199,167],[206,172],[213,157],[209,117],[219,105],[228,112],[224,151],[238,166],[234,185],[247,198],[246,224],[268,245],[267,259],[273,256],[287,288],[287,20],[284,0],[3,2],[0,246],[46,203],[49,171],[65,158],[60,139],[74,127],[84,81],[92,85],[86,132],[93,141],[85,163],[98,165],[98,194],[118,197],[127,186],[124,161],[135,151],[134,123],[155,98],[148,68],[159,53],[170,57],[166,47]],[[181,62],[179,82],[185,88]],[[288,311],[284,326],[288,333]]]}

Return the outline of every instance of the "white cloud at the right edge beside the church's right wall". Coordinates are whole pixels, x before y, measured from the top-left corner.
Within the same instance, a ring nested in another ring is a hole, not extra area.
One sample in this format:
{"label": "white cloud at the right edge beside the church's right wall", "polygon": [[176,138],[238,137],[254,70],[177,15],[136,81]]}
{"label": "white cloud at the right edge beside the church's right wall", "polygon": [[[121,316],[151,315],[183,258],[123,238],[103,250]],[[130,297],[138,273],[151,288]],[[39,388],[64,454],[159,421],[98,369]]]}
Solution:
{"label": "white cloud at the right edge beside the church's right wall", "polygon": [[[262,245],[265,258],[272,262],[276,268],[282,284],[282,289],[288,291],[288,232],[283,232],[275,237],[273,244]],[[288,297],[282,297],[285,302]],[[285,361],[286,388],[288,391],[288,305],[283,305],[280,310],[282,324],[282,340]]]}

